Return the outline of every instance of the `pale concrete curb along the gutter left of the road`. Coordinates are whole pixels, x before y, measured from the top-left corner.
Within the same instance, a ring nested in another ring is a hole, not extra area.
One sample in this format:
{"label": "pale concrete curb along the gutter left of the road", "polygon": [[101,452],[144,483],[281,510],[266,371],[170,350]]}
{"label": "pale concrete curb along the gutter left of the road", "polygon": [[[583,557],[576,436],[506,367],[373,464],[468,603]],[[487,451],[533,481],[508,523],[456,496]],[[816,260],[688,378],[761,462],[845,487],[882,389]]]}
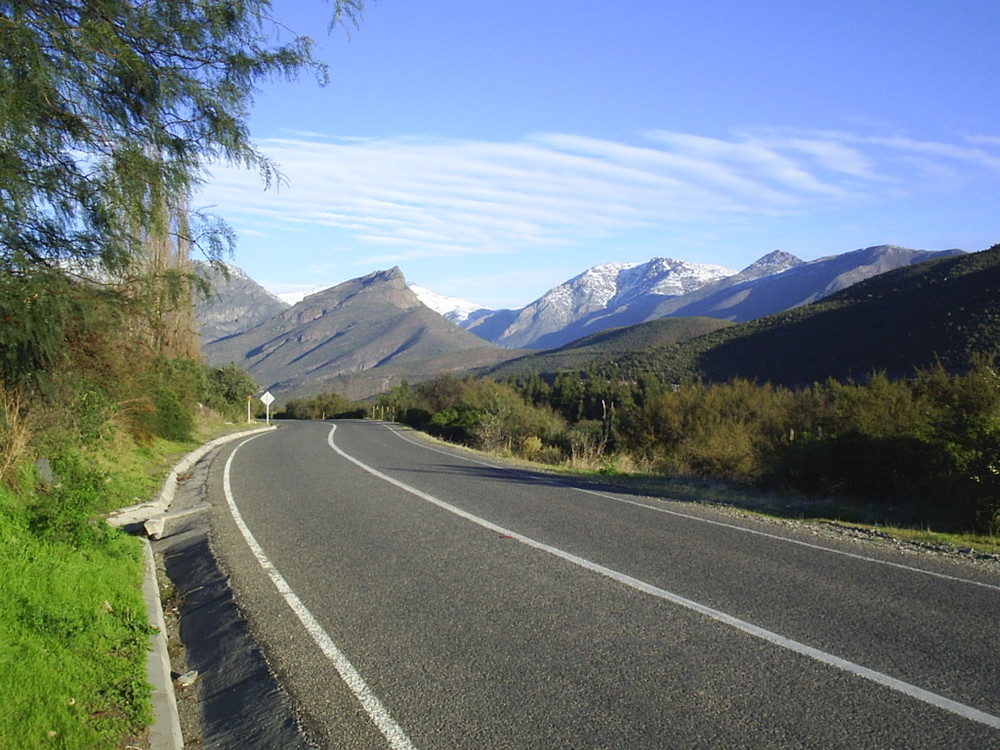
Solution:
{"label": "pale concrete curb along the gutter left of the road", "polygon": [[[184,476],[192,466],[220,445],[238,440],[247,435],[254,435],[258,432],[266,432],[273,429],[275,428],[271,426],[234,432],[231,435],[224,435],[196,448],[178,461],[174,468],[170,470],[155,500],[114,511],[108,517],[108,523],[113,526],[126,526],[136,523],[144,525],[150,519],[159,517],[162,524],[162,520],[168,517],[166,509],[173,502],[179,477]],[[176,515],[177,517],[181,517],[196,510],[201,510],[201,508],[189,509]],[[162,526],[160,526],[160,531],[162,531]],[[160,587],[156,580],[156,561],[153,557],[153,547],[149,543],[149,539],[143,539],[143,545],[146,571],[143,578],[142,593],[146,602],[146,613],[149,617],[149,622],[157,631],[149,637],[150,650],[146,662],[146,676],[153,686],[152,703],[154,718],[152,726],[149,727],[149,744],[151,750],[182,750],[184,747],[184,738],[181,734],[180,715],[177,711],[174,684],[170,679],[167,627],[163,619],[163,607],[160,603]]]}

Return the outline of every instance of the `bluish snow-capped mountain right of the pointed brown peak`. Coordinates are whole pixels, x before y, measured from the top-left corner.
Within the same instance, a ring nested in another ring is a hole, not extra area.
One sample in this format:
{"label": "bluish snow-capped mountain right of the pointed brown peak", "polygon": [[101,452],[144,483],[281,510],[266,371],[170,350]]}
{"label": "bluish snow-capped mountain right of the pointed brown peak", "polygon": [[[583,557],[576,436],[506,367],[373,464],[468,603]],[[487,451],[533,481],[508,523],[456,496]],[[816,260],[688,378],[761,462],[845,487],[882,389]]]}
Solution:
{"label": "bluish snow-capped mountain right of the pointed brown peak", "polygon": [[[490,331],[488,338],[511,348],[559,346],[583,335],[573,324],[590,316],[626,307],[641,298],[689,294],[735,274],[735,270],[724,266],[672,258],[653,258],[646,263],[602,263],[517,311],[513,320],[504,321],[507,325],[502,331]],[[473,333],[485,332],[489,330],[489,321],[489,317],[481,318],[468,329]],[[572,331],[570,338],[566,338],[565,331]]]}

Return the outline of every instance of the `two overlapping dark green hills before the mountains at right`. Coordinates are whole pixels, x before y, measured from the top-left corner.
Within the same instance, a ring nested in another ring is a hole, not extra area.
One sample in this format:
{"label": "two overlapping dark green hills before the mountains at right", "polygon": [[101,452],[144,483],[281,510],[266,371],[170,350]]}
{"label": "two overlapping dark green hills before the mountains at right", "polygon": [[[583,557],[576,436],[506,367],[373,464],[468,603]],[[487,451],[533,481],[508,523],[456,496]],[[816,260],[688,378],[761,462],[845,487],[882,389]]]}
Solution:
{"label": "two overlapping dark green hills before the mountains at right", "polygon": [[660,318],[609,329],[486,374],[544,377],[596,368],[661,383],[738,377],[798,387],[873,372],[912,377],[938,363],[961,372],[977,354],[1000,356],[1000,245],[887,271],[745,323]]}

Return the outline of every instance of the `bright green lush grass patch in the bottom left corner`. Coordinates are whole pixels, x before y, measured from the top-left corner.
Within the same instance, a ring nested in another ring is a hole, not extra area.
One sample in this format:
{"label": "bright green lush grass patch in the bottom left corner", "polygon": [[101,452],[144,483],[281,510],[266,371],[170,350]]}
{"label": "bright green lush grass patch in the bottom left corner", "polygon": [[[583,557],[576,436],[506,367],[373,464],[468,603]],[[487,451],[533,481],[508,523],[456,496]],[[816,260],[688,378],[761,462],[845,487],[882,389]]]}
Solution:
{"label": "bright green lush grass patch in the bottom left corner", "polygon": [[40,535],[0,493],[0,747],[118,747],[151,721],[140,542]]}

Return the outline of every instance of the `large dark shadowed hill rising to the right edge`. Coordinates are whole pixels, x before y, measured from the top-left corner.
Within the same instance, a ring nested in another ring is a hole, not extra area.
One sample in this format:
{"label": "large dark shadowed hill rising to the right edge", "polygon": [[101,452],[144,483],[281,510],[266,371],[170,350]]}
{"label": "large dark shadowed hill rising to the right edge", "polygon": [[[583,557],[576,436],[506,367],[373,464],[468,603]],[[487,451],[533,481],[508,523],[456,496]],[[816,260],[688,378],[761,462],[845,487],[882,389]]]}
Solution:
{"label": "large dark shadowed hill rising to the right edge", "polygon": [[873,371],[905,377],[936,359],[961,370],[974,352],[1000,352],[1000,245],[889,271],[811,305],[620,364],[675,382],[739,376],[794,386]]}

